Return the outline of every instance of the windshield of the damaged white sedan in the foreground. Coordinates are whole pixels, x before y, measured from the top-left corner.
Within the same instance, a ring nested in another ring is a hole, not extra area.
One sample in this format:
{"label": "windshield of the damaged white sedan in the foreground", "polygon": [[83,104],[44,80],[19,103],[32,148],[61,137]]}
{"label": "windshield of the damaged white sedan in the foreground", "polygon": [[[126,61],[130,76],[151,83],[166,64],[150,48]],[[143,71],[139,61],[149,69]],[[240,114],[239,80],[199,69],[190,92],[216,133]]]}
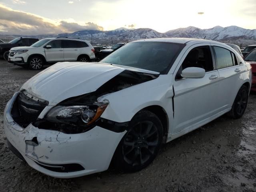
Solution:
{"label": "windshield of the damaged white sedan in the foreground", "polygon": [[169,42],[132,42],[100,62],[166,74],[183,47],[184,44]]}

